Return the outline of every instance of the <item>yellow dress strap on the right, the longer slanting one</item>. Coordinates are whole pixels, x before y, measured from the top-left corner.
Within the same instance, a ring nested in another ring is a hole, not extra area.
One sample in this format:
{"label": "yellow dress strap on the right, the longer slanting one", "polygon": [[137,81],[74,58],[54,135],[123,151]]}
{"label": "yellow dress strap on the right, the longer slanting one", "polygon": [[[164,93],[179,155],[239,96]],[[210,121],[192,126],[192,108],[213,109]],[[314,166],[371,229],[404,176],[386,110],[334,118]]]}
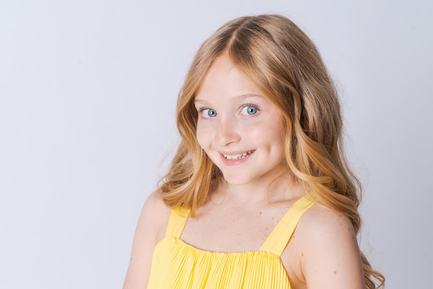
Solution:
{"label": "yellow dress strap on the right, the longer slanting one", "polygon": [[295,232],[295,228],[302,214],[313,205],[313,201],[308,199],[307,195],[297,200],[292,207],[288,209],[277,226],[275,226],[274,230],[268,236],[268,239],[261,245],[260,250],[281,256],[293,232]]}

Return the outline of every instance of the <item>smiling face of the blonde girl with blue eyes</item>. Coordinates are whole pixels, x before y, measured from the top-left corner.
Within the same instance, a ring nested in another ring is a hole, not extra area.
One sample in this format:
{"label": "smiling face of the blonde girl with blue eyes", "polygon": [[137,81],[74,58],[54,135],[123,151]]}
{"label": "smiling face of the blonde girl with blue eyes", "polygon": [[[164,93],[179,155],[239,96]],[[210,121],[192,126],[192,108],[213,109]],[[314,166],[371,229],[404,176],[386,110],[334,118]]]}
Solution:
{"label": "smiling face of the blonde girl with blue eyes", "polygon": [[269,182],[281,173],[282,114],[227,56],[212,64],[194,104],[199,145],[229,184]]}

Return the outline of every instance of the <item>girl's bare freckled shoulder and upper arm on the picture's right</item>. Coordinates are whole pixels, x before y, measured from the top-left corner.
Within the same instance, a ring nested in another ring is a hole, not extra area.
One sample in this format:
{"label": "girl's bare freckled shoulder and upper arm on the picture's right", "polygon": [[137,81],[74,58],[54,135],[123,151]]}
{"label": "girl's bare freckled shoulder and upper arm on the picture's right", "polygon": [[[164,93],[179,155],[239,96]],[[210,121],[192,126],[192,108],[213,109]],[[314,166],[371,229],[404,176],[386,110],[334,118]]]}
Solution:
{"label": "girl's bare freckled shoulder and upper arm on the picture's right", "polygon": [[344,214],[314,205],[300,219],[292,241],[300,252],[296,275],[308,289],[365,288],[358,241]]}

